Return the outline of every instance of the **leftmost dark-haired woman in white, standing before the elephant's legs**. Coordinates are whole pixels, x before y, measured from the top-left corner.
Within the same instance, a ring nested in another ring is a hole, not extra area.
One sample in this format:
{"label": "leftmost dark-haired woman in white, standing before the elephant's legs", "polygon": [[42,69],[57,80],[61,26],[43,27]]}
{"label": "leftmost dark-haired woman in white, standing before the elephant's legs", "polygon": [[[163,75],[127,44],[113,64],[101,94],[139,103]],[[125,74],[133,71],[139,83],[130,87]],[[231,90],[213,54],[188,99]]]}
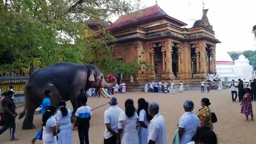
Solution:
{"label": "leftmost dark-haired woman in white, standing before the elephant's legs", "polygon": [[53,117],[57,107],[49,106],[42,118],[43,126],[43,144],[57,144],[58,125]]}

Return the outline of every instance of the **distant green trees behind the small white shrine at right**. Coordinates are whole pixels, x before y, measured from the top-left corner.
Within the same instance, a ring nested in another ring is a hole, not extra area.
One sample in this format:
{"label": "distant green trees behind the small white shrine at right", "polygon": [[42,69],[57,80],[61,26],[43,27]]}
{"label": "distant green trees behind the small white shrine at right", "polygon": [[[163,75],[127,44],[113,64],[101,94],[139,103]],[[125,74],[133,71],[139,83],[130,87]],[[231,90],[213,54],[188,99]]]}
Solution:
{"label": "distant green trees behind the small white shrine at right", "polygon": [[228,52],[230,57],[233,60],[238,59],[239,55],[243,54],[250,62],[249,64],[252,65],[253,69],[256,70],[256,51],[243,51],[243,52]]}

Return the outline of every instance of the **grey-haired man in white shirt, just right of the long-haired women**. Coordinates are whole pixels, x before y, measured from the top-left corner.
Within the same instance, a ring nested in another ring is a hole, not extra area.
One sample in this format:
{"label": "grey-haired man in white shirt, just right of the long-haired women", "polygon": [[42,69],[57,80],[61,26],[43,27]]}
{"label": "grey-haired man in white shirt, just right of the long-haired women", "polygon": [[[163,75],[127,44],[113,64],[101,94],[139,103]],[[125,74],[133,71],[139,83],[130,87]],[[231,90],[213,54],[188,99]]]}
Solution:
{"label": "grey-haired man in white shirt, just right of the long-haired women", "polygon": [[166,144],[165,119],[158,112],[158,104],[150,102],[148,113],[153,119],[148,125],[148,144]]}

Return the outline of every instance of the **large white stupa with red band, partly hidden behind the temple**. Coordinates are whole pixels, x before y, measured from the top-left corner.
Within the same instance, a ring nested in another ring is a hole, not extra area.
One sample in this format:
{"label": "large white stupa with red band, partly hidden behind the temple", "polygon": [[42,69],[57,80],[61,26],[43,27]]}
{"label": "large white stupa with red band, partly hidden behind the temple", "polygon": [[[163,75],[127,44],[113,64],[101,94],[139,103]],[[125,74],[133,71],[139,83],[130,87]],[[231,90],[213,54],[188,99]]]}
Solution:
{"label": "large white stupa with red band, partly hidden behind the temple", "polygon": [[235,73],[235,63],[230,55],[227,52],[218,51],[218,49],[216,54],[216,68],[217,75],[219,75],[221,81],[231,82],[232,79],[237,81],[240,78],[239,74]]}

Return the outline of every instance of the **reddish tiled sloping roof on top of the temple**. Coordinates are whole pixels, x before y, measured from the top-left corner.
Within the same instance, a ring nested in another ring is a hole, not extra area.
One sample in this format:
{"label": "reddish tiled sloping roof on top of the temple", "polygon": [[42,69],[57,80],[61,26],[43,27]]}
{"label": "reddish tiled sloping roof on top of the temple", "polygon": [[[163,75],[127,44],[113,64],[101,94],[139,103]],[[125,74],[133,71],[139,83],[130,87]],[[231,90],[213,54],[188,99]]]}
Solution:
{"label": "reddish tiled sloping roof on top of the temple", "polygon": [[179,26],[187,25],[182,21],[179,21],[177,19],[170,17],[161,9],[161,7],[155,4],[154,6],[146,7],[145,9],[135,11],[130,14],[122,15],[113,23],[113,25],[109,26],[108,29],[110,30],[110,29],[115,29],[120,27],[126,27],[134,23],[149,21],[151,19],[159,18],[159,17],[166,17],[167,19],[172,20],[174,23],[176,23]]}

